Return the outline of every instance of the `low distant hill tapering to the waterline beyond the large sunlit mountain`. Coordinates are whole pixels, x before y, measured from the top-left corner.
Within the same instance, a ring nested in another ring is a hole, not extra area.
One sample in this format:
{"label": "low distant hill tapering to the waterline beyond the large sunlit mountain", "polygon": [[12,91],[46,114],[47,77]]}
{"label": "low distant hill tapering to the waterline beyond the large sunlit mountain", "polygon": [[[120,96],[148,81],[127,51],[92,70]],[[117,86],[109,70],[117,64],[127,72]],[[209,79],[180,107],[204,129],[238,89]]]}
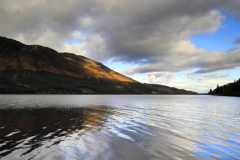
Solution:
{"label": "low distant hill tapering to the waterline beyond the large sunlit mountain", "polygon": [[158,94],[198,94],[196,92],[186,91],[184,89],[177,89],[174,87],[168,87],[168,86],[159,85],[159,84],[145,84],[145,85],[157,89]]}

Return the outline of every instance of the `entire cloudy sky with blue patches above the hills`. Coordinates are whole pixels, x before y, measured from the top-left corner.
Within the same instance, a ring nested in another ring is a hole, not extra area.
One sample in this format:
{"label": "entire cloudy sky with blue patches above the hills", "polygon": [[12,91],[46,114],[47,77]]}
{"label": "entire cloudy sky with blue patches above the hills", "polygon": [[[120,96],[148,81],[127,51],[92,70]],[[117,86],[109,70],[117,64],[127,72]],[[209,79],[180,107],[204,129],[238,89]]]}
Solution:
{"label": "entire cloudy sky with blue patches above the hills", "polygon": [[240,78],[239,8],[239,0],[0,0],[0,36],[206,93]]}

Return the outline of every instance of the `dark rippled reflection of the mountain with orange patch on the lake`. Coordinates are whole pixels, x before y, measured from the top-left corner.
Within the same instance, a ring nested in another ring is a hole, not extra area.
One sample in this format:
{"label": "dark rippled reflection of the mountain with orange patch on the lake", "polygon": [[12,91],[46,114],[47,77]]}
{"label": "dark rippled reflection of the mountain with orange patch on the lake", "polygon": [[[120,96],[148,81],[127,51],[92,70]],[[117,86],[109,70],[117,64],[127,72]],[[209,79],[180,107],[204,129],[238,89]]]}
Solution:
{"label": "dark rippled reflection of the mountain with orange patch on the lake", "polygon": [[37,148],[57,145],[73,134],[79,139],[87,131],[100,130],[114,110],[106,106],[5,108],[0,113],[0,157],[17,150],[22,157]]}

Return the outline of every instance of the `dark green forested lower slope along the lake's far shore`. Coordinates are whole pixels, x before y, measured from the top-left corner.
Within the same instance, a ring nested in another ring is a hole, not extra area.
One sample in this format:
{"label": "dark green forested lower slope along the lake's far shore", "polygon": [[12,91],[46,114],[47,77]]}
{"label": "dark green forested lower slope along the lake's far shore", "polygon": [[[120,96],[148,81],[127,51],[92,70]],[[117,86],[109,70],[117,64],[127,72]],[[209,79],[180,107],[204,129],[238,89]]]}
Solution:
{"label": "dark green forested lower slope along the lake's far shore", "polygon": [[141,83],[111,79],[86,79],[46,71],[5,71],[0,75],[0,93],[6,94],[151,94],[156,89]]}

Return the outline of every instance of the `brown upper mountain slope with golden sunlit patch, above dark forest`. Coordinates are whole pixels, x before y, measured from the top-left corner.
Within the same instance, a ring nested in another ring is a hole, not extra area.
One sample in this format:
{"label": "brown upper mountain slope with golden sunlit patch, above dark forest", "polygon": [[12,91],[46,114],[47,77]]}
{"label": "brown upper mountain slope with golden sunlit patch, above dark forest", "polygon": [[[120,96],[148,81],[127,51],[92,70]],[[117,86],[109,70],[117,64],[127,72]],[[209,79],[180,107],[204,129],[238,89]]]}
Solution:
{"label": "brown upper mountain slope with golden sunlit patch, above dark forest", "polygon": [[58,53],[39,45],[25,45],[0,37],[0,72],[6,70],[47,71],[87,79],[107,78],[138,83],[98,61],[71,53]]}

